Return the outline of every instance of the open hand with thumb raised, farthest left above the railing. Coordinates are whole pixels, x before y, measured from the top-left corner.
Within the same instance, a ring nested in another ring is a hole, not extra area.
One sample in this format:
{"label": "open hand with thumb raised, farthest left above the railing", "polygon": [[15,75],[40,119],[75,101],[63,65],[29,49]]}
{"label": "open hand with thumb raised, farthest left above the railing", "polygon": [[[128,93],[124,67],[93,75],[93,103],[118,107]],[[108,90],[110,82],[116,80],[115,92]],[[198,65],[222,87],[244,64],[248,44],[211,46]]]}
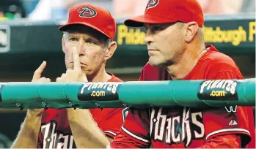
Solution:
{"label": "open hand with thumb raised, farthest left above the railing", "polygon": [[[43,71],[45,70],[45,67],[46,67],[46,61],[43,61],[43,63],[37,68],[37,70],[34,71],[32,82],[51,82],[51,79],[46,77],[41,77]],[[32,116],[40,117],[43,114],[43,109],[28,110],[28,114]]]}

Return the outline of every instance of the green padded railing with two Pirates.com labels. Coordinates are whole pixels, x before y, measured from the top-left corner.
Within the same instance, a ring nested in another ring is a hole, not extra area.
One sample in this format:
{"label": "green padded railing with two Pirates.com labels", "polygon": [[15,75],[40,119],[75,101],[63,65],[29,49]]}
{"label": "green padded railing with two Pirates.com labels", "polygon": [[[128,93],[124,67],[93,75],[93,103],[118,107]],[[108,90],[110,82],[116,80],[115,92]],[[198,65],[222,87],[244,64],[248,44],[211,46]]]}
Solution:
{"label": "green padded railing with two Pirates.com labels", "polygon": [[255,106],[255,78],[125,83],[0,83],[0,107]]}

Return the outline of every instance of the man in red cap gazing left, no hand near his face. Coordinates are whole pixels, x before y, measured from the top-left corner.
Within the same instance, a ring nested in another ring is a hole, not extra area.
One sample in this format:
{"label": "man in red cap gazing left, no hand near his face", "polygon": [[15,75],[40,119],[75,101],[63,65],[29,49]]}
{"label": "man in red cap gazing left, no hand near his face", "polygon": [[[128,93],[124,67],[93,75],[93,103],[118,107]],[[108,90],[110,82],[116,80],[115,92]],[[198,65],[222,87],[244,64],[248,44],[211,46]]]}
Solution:
{"label": "man in red cap gazing left, no hand near his face", "polygon": [[[150,58],[139,80],[243,79],[229,56],[205,46],[203,23],[197,0],[150,0],[144,15],[125,20],[126,26],[147,30]],[[237,98],[228,89],[231,83],[222,88]],[[252,107],[131,108],[110,148],[255,148],[254,127]]]}

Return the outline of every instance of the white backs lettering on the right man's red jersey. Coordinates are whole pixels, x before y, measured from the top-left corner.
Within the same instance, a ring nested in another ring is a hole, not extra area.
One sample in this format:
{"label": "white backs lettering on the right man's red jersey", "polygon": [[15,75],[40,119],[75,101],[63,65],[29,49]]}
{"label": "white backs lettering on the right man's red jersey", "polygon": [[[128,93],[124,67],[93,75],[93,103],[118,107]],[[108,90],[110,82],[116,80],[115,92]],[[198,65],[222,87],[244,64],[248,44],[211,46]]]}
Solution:
{"label": "white backs lettering on the right man's red jersey", "polygon": [[170,115],[169,108],[153,108],[150,117],[150,136],[155,142],[184,143],[188,147],[192,140],[205,136],[201,111],[184,107],[183,112]]}

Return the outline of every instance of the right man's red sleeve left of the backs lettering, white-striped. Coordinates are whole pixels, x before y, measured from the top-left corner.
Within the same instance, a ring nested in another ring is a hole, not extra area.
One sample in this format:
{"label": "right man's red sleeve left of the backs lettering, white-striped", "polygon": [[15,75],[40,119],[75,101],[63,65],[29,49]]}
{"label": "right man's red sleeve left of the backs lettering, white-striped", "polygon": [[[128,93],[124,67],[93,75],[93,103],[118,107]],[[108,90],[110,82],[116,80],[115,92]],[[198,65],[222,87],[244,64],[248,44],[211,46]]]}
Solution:
{"label": "right man's red sleeve left of the backs lettering, white-striped", "polygon": [[150,121],[147,110],[130,109],[111,148],[148,148]]}

